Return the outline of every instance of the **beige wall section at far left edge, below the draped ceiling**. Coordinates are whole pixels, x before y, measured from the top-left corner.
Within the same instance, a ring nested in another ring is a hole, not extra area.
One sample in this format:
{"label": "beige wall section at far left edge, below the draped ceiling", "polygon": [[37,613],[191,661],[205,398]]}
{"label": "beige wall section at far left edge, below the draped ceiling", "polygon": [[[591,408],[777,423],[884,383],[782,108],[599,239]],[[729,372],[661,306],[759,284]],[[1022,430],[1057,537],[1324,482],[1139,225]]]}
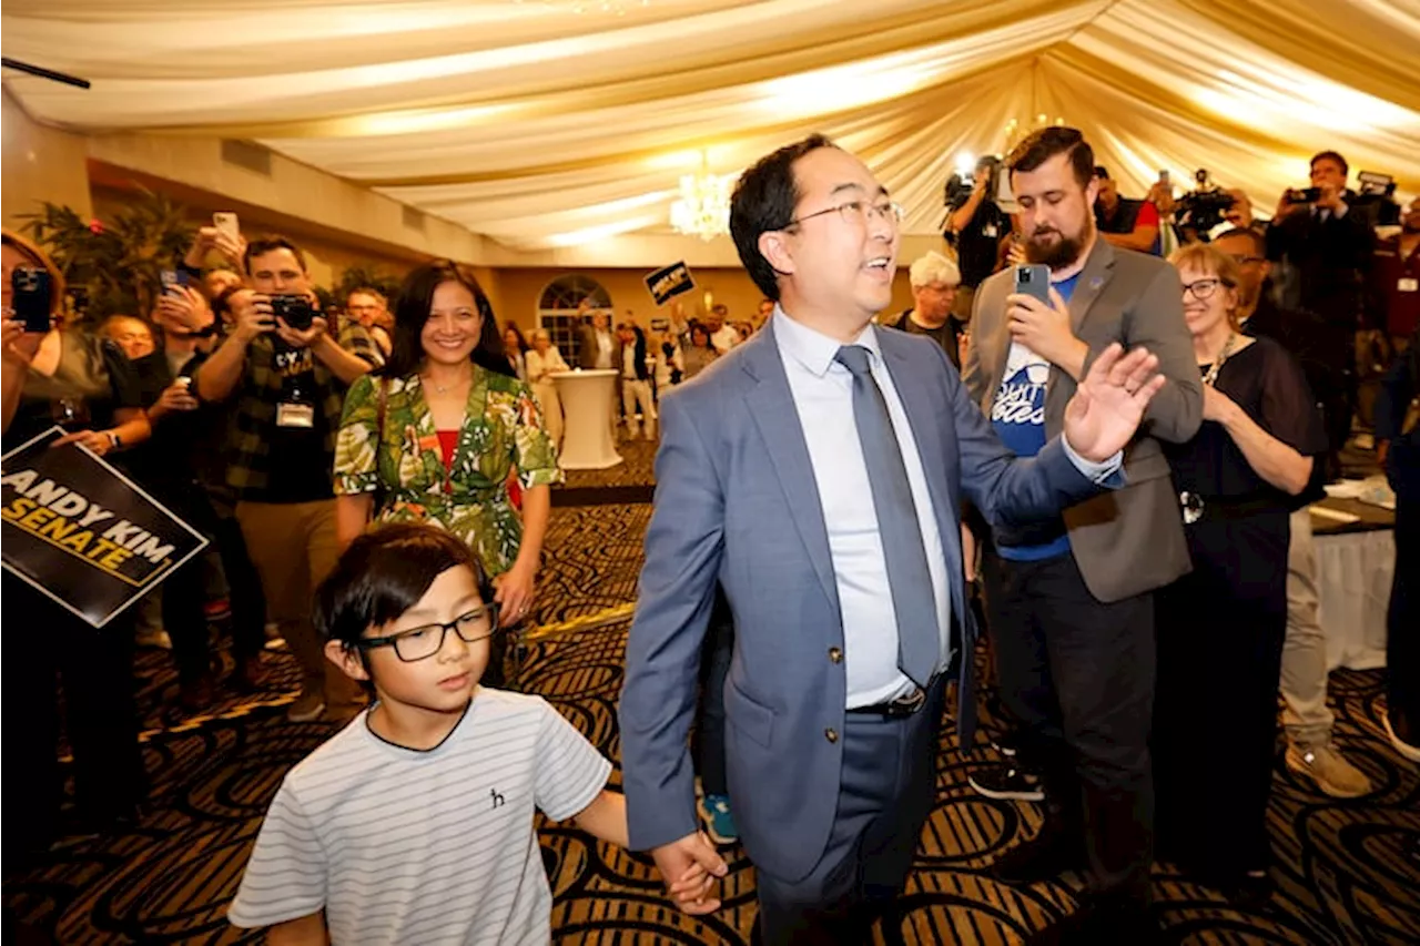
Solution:
{"label": "beige wall section at far left edge, below the draped ceiling", "polygon": [[87,155],[82,135],[30,121],[0,87],[0,226],[18,227],[17,216],[38,210],[41,200],[91,216]]}

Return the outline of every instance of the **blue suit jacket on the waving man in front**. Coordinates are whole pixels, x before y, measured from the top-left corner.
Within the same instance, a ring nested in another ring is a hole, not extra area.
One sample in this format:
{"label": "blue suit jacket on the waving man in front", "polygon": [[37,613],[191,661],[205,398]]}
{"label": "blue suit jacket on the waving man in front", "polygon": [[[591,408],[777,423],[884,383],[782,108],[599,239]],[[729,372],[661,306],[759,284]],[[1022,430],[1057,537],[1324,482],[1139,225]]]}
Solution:
{"label": "blue suit jacket on the waving man in front", "polygon": [[[876,331],[947,551],[961,628],[953,641],[964,685],[958,726],[970,730],[976,629],[964,599],[961,500],[988,520],[1021,523],[1055,516],[1098,487],[1058,440],[1034,460],[1001,446],[933,341]],[[821,858],[834,824],[846,676],[828,533],[772,322],[669,392],[660,423],[656,507],[621,699],[632,848],[697,827],[686,736],[719,581],[734,615],[724,687],[734,820],[755,865],[795,881]]]}

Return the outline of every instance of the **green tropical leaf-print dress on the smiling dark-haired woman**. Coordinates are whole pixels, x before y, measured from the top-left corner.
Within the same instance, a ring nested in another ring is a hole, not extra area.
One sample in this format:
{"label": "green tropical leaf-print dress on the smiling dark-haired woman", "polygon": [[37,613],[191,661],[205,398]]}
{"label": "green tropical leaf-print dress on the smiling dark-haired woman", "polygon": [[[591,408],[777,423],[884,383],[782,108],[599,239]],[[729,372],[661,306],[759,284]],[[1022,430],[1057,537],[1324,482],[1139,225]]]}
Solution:
{"label": "green tropical leaf-print dress on the smiling dark-haired woman", "polygon": [[[379,436],[381,385],[388,384],[385,436]],[[446,467],[439,432],[419,376],[351,385],[335,440],[335,493],[385,489],[378,523],[430,523],[457,535],[490,575],[513,567],[523,520],[508,499],[513,470],[523,489],[562,482],[542,409],[525,384],[474,368],[453,463]]]}

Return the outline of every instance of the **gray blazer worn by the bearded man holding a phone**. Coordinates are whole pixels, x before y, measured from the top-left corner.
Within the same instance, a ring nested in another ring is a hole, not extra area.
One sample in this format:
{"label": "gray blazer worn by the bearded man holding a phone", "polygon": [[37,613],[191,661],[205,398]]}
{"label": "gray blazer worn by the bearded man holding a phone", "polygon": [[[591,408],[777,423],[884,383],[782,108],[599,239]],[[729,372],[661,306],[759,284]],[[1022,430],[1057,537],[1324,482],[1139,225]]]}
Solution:
{"label": "gray blazer worn by the bearded man holding a phone", "polygon": [[[971,307],[971,351],[961,381],[987,416],[1001,386],[1011,335],[1005,297],[1012,270],[997,273]],[[1154,395],[1133,443],[1125,450],[1127,486],[1065,510],[1071,551],[1085,585],[1100,601],[1120,601],[1160,588],[1191,564],[1179,494],[1159,440],[1191,440],[1203,422],[1203,381],[1193,338],[1183,321],[1179,271],[1159,257],[1119,250],[1099,240],[1069,301],[1075,337],[1089,345],[1086,369],[1110,342],[1145,345],[1159,355],[1167,378]],[[1058,436],[1075,379],[1052,366],[1045,388],[1045,435]]]}

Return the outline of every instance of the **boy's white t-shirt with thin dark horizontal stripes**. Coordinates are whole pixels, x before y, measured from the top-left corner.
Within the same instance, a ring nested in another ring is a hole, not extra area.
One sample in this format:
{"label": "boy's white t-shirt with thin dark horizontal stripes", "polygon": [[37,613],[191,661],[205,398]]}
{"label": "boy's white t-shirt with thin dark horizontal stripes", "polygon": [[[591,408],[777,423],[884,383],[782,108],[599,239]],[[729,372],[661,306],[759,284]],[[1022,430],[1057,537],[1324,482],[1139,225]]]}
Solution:
{"label": "boy's white t-shirt with thin dark horizontal stripes", "polygon": [[427,751],[379,739],[368,713],[287,773],[227,919],[324,909],[335,946],[544,946],[552,892],[534,807],[581,812],[611,763],[540,696],[480,687]]}

